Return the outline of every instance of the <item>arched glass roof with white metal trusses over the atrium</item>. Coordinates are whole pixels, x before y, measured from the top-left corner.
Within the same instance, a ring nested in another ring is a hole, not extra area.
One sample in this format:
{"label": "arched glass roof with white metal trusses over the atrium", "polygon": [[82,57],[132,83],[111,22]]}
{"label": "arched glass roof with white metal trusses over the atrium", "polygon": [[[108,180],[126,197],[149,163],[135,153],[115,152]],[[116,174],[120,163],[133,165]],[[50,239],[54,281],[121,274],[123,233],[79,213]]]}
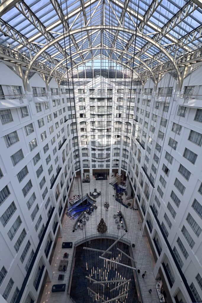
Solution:
{"label": "arched glass roof with white metal trusses over the atrium", "polygon": [[13,0],[0,5],[0,44],[62,74],[98,59],[144,72],[201,47],[201,8],[198,0]]}

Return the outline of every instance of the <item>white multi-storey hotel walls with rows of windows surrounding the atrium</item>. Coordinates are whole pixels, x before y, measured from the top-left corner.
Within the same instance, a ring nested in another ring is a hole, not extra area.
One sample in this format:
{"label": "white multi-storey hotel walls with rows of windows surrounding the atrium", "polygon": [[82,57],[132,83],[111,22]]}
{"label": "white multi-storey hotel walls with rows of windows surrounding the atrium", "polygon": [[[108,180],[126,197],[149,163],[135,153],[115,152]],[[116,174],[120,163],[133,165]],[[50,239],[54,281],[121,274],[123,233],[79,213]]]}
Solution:
{"label": "white multi-storey hotel walls with rows of windows surrounding the atrium", "polygon": [[3,298],[37,301],[43,280],[51,279],[75,176],[113,180],[119,173],[168,301],[200,302],[201,67],[181,91],[171,73],[155,87],[151,78],[142,86],[102,77],[74,86],[52,78],[47,85],[33,72],[25,92],[12,64],[0,66]]}

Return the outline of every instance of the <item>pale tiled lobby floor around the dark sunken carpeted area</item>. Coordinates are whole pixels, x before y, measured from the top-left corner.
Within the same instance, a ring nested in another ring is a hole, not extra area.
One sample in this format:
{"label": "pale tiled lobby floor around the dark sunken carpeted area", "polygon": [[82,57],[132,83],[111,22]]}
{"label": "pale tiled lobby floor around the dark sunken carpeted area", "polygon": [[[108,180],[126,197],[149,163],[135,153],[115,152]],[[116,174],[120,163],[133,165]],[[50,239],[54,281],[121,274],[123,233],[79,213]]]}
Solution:
{"label": "pale tiled lobby floor around the dark sunken carpeted area", "polygon": [[[155,261],[151,252],[151,248],[146,236],[142,236],[141,233],[141,218],[139,216],[138,211],[133,211],[130,208],[125,208],[123,205],[118,203],[113,195],[115,195],[115,191],[113,186],[109,185],[108,180],[104,181],[96,181],[95,179],[91,180],[90,183],[83,183],[83,195],[89,192],[93,192],[94,188],[97,188],[97,191],[101,191],[101,195],[96,199],[96,205],[98,206],[97,210],[94,210],[92,215],[89,216],[89,221],[86,221],[85,228],[83,230],[77,229],[75,232],[72,232],[73,225],[75,224],[75,220],[71,220],[66,214],[64,216],[62,222],[63,235],[62,238],[58,238],[55,252],[53,255],[53,259],[51,262],[51,268],[53,271],[53,276],[51,278],[51,282],[45,283],[45,288],[43,291],[43,295],[41,298],[41,303],[69,303],[68,296],[66,294],[67,285],[71,274],[71,261],[73,255],[72,249],[62,249],[62,242],[64,241],[72,241],[73,247],[75,241],[83,239],[90,235],[95,235],[99,237],[101,234],[97,232],[97,225],[100,222],[101,218],[104,218],[106,225],[108,226],[108,234],[113,234],[117,238],[123,235],[123,229],[118,229],[117,224],[115,223],[114,214],[117,214],[118,210],[124,215],[124,218],[127,222],[128,232],[124,235],[124,239],[131,241],[131,243],[135,244],[133,248],[133,255],[136,261],[136,268],[140,269],[139,281],[141,285],[141,291],[144,298],[144,303],[158,303],[159,298],[156,291],[157,280],[153,274],[153,268],[155,266]],[[73,195],[81,195],[81,181],[80,178],[75,178],[74,182],[74,190],[72,189],[70,197]],[[125,195],[123,195],[124,201]],[[104,208],[104,202],[109,202],[109,209],[106,210]],[[68,208],[71,205],[68,203]],[[60,260],[63,259],[64,252],[69,253],[68,257],[68,266],[66,272],[58,271],[58,267],[60,264]],[[145,278],[142,278],[142,274],[147,272]],[[64,274],[64,281],[58,281],[58,275]],[[79,278],[79,277],[78,277]],[[52,293],[52,285],[65,283],[66,289],[65,292]],[[149,289],[152,289],[152,294],[149,293]]]}

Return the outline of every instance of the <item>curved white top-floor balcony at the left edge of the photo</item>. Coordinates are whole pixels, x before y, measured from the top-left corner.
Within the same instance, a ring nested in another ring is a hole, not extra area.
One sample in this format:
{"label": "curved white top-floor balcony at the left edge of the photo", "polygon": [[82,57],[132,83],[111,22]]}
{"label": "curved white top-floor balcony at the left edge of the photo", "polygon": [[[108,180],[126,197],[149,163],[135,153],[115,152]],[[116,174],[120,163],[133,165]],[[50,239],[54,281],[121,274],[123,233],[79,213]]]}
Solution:
{"label": "curved white top-floor balcony at the left edge of the photo", "polygon": [[25,94],[22,95],[0,95],[0,109],[3,108],[15,108],[22,106],[20,104],[24,103],[23,99],[26,98]]}

